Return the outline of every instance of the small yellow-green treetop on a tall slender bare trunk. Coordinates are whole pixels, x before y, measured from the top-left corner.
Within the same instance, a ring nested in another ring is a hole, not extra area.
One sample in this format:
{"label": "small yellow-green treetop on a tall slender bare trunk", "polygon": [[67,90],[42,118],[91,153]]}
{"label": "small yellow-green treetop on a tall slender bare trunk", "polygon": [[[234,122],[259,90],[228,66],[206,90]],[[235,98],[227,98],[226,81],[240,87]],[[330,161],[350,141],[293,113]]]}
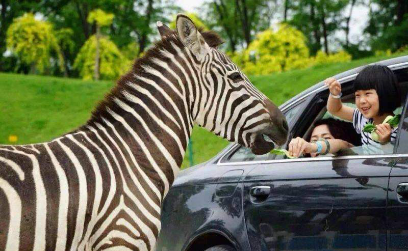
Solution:
{"label": "small yellow-green treetop on a tall slender bare trunk", "polygon": [[89,13],[88,15],[88,22],[93,23],[95,22],[96,24],[96,51],[95,51],[95,67],[94,67],[94,79],[98,80],[99,79],[99,71],[100,71],[100,66],[99,66],[99,60],[100,60],[100,27],[103,26],[108,26],[112,23],[112,20],[114,18],[113,14],[105,13],[101,9],[96,9],[93,10]]}

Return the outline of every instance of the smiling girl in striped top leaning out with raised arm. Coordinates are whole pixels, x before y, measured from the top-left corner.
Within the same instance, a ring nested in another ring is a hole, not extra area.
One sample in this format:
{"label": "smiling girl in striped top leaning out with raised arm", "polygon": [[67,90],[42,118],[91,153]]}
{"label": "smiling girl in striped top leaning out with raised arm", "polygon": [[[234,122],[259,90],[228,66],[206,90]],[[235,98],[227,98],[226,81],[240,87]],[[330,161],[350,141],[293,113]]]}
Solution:
{"label": "smiling girl in striped top leaning out with raised arm", "polygon": [[[394,116],[393,111],[400,106],[401,100],[397,77],[387,66],[367,66],[357,75],[354,81],[355,109],[342,104],[339,81],[327,78],[325,85],[330,91],[327,110],[341,119],[352,121],[355,131],[361,134],[363,146],[395,141],[397,128],[382,124],[387,116]],[[378,142],[363,131],[367,123],[375,125]]]}

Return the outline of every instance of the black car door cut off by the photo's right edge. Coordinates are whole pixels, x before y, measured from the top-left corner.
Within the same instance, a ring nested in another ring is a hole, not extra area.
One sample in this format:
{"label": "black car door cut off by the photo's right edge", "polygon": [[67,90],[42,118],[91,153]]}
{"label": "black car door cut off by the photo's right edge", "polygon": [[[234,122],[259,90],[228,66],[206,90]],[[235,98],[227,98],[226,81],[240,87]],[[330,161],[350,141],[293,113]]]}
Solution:
{"label": "black car door cut off by the photo's right edge", "polygon": [[402,113],[396,142],[398,159],[390,174],[387,202],[389,251],[408,249],[408,99]]}

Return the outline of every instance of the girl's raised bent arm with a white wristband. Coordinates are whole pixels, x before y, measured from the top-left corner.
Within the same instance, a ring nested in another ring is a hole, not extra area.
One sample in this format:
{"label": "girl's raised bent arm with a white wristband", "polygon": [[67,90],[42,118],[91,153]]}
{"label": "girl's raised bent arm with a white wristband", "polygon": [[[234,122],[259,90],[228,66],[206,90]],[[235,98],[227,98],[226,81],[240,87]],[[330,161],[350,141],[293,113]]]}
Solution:
{"label": "girl's raised bent arm with a white wristband", "polygon": [[328,96],[327,100],[327,110],[343,120],[353,121],[353,112],[354,109],[343,105],[340,98],[334,98],[332,95],[340,95],[341,93],[341,86],[340,82],[334,79],[333,77],[329,77],[324,80],[324,84],[328,86],[331,95]]}

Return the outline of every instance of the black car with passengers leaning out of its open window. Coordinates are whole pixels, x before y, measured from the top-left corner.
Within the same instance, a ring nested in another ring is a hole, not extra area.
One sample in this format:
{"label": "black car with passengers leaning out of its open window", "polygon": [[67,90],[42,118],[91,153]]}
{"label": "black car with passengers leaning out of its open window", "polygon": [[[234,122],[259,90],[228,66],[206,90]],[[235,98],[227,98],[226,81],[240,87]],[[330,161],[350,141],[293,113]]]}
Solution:
{"label": "black car with passengers leaning out of its open window", "polygon": [[[232,144],[177,177],[163,202],[156,250],[408,249],[408,56],[377,64],[400,84],[395,144],[296,159]],[[361,69],[334,76],[350,105]],[[289,138],[310,134],[327,114],[328,94],[320,82],[280,107]]]}

